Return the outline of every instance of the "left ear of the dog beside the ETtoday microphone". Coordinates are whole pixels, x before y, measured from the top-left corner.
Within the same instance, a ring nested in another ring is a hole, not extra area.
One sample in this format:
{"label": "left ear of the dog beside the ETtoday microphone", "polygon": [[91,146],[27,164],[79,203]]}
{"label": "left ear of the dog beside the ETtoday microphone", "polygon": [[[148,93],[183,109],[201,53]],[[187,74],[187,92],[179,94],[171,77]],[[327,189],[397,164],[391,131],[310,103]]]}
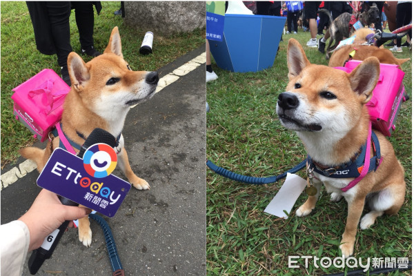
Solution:
{"label": "left ear of the dog beside the ETtoday microphone", "polygon": [[68,56],[68,71],[72,87],[81,92],[90,79],[90,75],[85,61],[76,52],[70,52]]}

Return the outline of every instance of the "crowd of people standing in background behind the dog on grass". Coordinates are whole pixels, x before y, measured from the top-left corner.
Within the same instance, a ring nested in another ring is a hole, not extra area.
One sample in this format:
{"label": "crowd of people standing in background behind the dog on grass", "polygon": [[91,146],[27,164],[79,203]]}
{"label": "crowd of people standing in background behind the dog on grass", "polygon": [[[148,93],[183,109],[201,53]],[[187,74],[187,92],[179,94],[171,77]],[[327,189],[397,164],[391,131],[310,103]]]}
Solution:
{"label": "crowd of people standing in background behind the dog on grass", "polygon": [[[379,17],[375,23],[368,27],[381,31],[386,28],[388,23],[384,9],[391,13],[393,20],[395,19],[396,28],[411,23],[412,17],[411,1],[244,1],[244,4],[254,14],[285,16],[286,34],[297,34],[299,26],[302,26],[305,32],[309,31],[311,34],[306,46],[318,48],[319,52],[322,53],[325,52],[326,41],[329,38],[327,30],[331,20],[335,20],[344,12],[357,14],[364,12],[373,5],[377,6],[380,12]],[[395,4],[396,8],[392,8]],[[331,19],[326,13],[319,12],[322,9],[328,10]],[[390,24],[388,32],[391,31]],[[385,46],[391,47],[390,50],[393,52],[402,52],[401,47],[411,46],[411,35],[411,31],[408,32],[405,43],[402,43],[401,39],[397,39]],[[317,39],[317,36],[322,37]],[[209,48],[207,48],[207,56],[206,81],[213,81],[217,79],[217,75],[211,68]]]}

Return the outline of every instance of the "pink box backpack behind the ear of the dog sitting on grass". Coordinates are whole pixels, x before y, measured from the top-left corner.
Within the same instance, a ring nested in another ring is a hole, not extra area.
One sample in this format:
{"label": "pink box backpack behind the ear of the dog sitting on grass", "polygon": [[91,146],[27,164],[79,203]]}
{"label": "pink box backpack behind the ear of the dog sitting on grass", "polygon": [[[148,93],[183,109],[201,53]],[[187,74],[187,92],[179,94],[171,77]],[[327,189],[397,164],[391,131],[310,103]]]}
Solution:
{"label": "pink box backpack behind the ear of the dog sitting on grass", "polygon": [[[350,60],[345,67],[335,67],[345,72],[351,72],[362,61]],[[373,97],[366,106],[373,128],[380,130],[382,134],[390,137],[395,130],[395,121],[405,98],[405,88],[402,84],[404,72],[394,64],[380,64],[380,77],[377,86],[373,90]]]}

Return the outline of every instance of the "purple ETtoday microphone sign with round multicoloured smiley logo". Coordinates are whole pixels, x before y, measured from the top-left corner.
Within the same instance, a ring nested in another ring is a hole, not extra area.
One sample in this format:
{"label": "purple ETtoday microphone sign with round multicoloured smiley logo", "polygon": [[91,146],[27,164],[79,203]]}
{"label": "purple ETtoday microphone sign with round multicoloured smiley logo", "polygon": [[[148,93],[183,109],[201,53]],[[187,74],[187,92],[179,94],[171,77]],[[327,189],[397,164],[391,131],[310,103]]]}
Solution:
{"label": "purple ETtoday microphone sign with round multicoloured smiley logo", "polygon": [[39,175],[37,185],[113,217],[130,190],[127,181],[111,175],[117,166],[116,152],[106,144],[95,144],[83,157],[57,148]]}

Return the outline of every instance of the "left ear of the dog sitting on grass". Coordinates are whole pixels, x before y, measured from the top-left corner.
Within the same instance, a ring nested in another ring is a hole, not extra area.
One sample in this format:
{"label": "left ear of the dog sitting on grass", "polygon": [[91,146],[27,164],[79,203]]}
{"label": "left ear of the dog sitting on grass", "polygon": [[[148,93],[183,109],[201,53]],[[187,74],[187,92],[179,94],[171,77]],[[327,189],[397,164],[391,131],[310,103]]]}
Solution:
{"label": "left ear of the dog sitting on grass", "polygon": [[311,64],[306,58],[305,51],[296,39],[289,39],[288,43],[288,77],[292,79]]}

